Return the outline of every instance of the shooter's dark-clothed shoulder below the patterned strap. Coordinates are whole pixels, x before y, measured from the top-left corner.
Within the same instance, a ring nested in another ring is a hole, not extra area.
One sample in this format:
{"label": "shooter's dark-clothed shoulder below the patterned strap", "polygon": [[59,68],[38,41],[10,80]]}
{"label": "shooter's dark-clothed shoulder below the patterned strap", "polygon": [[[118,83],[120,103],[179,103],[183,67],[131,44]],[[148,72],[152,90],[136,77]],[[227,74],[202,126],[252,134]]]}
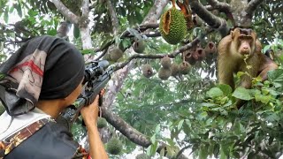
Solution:
{"label": "shooter's dark-clothed shoulder below the patterned strap", "polygon": [[79,144],[72,133],[56,122],[49,122],[7,155],[10,158],[72,158]]}

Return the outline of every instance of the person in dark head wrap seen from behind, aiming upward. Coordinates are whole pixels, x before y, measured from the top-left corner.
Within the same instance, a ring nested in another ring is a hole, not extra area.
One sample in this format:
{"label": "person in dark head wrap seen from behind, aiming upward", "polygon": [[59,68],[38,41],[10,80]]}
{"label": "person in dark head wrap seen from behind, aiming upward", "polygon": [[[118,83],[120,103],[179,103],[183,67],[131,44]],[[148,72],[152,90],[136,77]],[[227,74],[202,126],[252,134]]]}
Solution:
{"label": "person in dark head wrap seen from behind, aiming upward", "polygon": [[[108,158],[96,127],[103,87],[95,89],[92,79],[89,94],[79,98],[83,107],[75,110],[87,126],[89,152],[56,122],[83,87],[84,60],[71,43],[48,35],[35,37],[1,64],[0,72],[0,99],[6,110],[0,117],[0,158]],[[96,74],[92,78],[101,79]]]}

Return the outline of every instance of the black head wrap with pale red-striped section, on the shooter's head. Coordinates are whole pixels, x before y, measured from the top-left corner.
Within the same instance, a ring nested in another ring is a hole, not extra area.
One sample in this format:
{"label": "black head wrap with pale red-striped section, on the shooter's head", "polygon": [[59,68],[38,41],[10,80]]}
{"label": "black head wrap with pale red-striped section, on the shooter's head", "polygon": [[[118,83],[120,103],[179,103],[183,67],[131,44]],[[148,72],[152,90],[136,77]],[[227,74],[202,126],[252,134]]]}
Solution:
{"label": "black head wrap with pale red-striped section, on the shooter's head", "polygon": [[0,99],[11,116],[38,100],[65,98],[80,84],[84,60],[73,44],[49,35],[26,42],[0,65]]}

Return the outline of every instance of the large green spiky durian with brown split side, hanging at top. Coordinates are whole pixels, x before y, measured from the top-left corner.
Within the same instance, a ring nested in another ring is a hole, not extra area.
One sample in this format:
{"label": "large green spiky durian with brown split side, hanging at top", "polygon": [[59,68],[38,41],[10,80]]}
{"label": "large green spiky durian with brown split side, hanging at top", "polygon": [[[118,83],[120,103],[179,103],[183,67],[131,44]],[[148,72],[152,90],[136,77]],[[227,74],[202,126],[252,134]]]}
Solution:
{"label": "large green spiky durian with brown split side, hanging at top", "polygon": [[160,19],[159,31],[166,42],[172,45],[181,42],[187,33],[184,14],[174,6],[165,11]]}

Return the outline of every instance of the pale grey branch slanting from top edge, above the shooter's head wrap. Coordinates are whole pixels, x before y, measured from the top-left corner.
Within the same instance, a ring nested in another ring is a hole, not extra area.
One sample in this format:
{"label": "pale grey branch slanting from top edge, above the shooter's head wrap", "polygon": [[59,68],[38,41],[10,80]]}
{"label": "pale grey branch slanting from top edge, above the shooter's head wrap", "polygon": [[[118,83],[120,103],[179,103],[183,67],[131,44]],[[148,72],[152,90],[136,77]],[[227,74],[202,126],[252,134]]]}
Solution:
{"label": "pale grey branch slanting from top edge, above the shooter's head wrap", "polygon": [[58,11],[60,11],[64,17],[70,20],[73,24],[78,24],[80,18],[76,16],[72,11],[70,11],[60,0],[50,0],[53,4],[55,4]]}

